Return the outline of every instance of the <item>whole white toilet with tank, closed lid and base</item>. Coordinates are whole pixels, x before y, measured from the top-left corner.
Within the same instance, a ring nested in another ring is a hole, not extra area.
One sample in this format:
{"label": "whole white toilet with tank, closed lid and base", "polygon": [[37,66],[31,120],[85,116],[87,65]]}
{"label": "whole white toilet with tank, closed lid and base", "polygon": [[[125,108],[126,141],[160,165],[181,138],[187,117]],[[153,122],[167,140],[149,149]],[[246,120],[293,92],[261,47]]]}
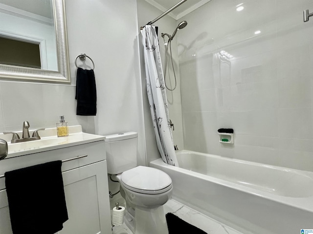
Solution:
{"label": "whole white toilet with tank, closed lid and base", "polygon": [[137,133],[108,135],[105,142],[108,173],[116,175],[126,200],[125,224],[134,234],[167,234],[162,205],[172,195],[171,177],[156,168],[137,166]]}

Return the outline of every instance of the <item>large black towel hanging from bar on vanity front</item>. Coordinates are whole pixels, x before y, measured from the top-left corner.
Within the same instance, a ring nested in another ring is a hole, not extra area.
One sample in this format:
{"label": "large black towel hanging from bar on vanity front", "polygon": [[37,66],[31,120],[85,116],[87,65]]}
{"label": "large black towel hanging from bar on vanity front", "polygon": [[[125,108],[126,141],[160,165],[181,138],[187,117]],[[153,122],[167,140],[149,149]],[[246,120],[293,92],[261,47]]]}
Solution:
{"label": "large black towel hanging from bar on vanity front", "polygon": [[4,174],[13,234],[63,229],[68,215],[61,166],[52,161]]}

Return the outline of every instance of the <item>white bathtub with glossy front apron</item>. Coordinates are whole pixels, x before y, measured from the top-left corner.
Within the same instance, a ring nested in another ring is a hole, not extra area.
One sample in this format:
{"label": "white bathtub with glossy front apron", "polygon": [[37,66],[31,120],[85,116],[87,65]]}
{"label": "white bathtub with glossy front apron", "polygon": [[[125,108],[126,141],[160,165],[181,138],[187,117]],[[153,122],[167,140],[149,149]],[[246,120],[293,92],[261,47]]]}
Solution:
{"label": "white bathtub with glossy front apron", "polygon": [[313,173],[192,151],[179,167],[154,160],[171,176],[173,198],[245,234],[313,229]]}

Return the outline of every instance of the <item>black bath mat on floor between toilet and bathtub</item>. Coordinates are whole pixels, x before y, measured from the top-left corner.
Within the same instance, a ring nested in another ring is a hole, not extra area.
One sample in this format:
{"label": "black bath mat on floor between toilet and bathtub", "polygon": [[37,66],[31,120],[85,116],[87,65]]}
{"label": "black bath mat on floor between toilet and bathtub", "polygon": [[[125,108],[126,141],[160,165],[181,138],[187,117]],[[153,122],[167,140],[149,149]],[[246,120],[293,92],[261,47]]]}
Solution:
{"label": "black bath mat on floor between toilet and bathtub", "polygon": [[165,215],[169,234],[207,234],[172,213]]}

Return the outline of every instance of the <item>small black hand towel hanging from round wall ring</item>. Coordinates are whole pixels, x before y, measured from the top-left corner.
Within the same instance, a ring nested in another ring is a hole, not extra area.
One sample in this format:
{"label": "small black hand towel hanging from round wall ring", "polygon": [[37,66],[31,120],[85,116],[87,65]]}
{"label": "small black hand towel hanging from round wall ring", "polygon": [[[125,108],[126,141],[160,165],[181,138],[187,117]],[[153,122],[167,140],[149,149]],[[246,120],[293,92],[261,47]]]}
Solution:
{"label": "small black hand towel hanging from round wall ring", "polygon": [[93,70],[77,68],[76,97],[78,116],[95,116],[97,114],[96,81]]}

